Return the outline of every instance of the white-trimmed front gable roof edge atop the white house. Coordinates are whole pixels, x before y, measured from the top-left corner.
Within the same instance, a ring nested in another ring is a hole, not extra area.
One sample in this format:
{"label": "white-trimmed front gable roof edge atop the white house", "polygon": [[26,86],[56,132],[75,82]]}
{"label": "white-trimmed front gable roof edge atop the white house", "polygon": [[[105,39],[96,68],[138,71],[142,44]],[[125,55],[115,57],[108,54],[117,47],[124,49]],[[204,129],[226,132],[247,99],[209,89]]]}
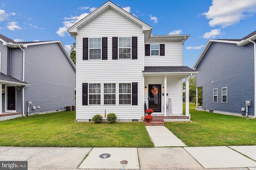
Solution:
{"label": "white-trimmed front gable roof edge atop the white house", "polygon": [[130,21],[134,22],[135,24],[139,25],[140,27],[142,27],[143,31],[150,31],[149,35],[151,35],[152,27],[150,27],[148,24],[144,23],[140,19],[136,18],[135,16],[133,16],[129,12],[126,12],[124,9],[120,8],[119,6],[117,6],[116,4],[114,4],[111,1],[106,2],[102,6],[100,6],[99,8],[94,10],[93,12],[91,12],[88,16],[84,17],[82,20],[75,23],[72,27],[68,28],[67,31],[70,33],[70,35],[72,37],[74,37],[76,39],[76,34],[78,34],[78,30],[81,27],[83,27],[84,25],[86,25],[87,23],[89,23],[94,18],[98,17],[100,14],[102,14],[103,12],[105,12],[108,9],[112,9],[112,10],[116,11],[118,14],[124,16],[128,20],[130,20]]}

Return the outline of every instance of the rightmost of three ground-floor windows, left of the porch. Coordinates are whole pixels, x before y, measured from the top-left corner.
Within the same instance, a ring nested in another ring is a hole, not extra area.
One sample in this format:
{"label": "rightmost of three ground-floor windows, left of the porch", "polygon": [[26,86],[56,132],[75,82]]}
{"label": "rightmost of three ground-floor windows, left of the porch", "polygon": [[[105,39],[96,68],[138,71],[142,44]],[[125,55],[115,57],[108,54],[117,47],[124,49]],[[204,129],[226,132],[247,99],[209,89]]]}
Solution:
{"label": "rightmost of three ground-floor windows, left of the porch", "polygon": [[119,83],[119,104],[131,104],[130,83]]}

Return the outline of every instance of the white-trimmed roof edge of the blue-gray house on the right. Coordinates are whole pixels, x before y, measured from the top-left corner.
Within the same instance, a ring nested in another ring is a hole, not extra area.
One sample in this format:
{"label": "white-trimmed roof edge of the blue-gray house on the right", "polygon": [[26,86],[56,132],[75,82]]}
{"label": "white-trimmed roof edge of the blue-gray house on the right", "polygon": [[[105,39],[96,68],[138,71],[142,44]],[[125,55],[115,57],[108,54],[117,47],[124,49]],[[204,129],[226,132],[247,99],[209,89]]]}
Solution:
{"label": "white-trimmed roof edge of the blue-gray house on the right", "polygon": [[233,43],[233,44],[236,44],[238,46],[244,46],[244,45],[250,43],[249,39],[251,39],[252,41],[256,40],[256,31],[250,33],[249,35],[246,35],[242,39],[209,39],[208,42],[206,43],[206,45],[204,46],[203,51],[201,52],[198,59],[196,60],[196,63],[194,64],[193,69],[196,69],[196,67],[198,66],[198,64],[200,63],[202,58],[204,57],[206,51],[208,50],[208,48],[212,44],[212,42]]}

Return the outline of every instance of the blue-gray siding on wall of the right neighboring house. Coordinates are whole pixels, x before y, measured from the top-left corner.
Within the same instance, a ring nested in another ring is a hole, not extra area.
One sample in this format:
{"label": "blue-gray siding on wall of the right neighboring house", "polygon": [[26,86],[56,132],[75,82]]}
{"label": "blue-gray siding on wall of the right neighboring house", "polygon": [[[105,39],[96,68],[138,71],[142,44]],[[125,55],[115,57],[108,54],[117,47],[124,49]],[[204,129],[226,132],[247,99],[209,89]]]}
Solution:
{"label": "blue-gray siding on wall of the right neighboring house", "polygon": [[[254,114],[253,44],[237,46],[212,42],[198,64],[196,86],[203,88],[203,109],[242,114],[241,107],[251,100],[248,114]],[[222,88],[227,87],[227,103],[222,103]],[[213,102],[213,89],[218,89],[218,102]]]}

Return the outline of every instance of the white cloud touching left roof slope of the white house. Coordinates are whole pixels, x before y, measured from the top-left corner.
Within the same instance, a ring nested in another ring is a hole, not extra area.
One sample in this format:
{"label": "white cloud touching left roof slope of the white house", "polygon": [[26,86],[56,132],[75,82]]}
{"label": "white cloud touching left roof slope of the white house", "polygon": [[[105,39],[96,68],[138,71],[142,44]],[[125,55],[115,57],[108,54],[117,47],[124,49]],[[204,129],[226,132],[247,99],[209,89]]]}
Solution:
{"label": "white cloud touching left roof slope of the white house", "polygon": [[63,27],[59,27],[58,31],[56,31],[56,33],[61,36],[61,37],[65,37],[66,33],[68,33],[68,31],[66,29],[70,28],[72,25],[74,25],[76,22],[82,20],[84,17],[88,16],[89,13],[84,13],[81,14],[80,16],[70,16],[70,17],[65,17],[62,23],[63,23]]}

